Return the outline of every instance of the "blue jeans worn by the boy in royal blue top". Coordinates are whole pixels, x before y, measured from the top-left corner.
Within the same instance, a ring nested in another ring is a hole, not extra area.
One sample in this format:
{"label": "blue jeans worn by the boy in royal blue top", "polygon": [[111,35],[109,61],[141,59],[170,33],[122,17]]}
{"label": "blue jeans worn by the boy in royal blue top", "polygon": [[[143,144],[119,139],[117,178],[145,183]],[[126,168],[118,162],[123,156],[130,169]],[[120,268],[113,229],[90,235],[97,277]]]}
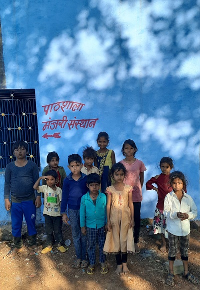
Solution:
{"label": "blue jeans worn by the boy in royal blue top", "polygon": [[75,255],[77,259],[86,260],[86,235],[82,235],[80,228],[80,212],[79,210],[68,209],[68,216],[71,224],[71,233],[73,245],[75,248]]}

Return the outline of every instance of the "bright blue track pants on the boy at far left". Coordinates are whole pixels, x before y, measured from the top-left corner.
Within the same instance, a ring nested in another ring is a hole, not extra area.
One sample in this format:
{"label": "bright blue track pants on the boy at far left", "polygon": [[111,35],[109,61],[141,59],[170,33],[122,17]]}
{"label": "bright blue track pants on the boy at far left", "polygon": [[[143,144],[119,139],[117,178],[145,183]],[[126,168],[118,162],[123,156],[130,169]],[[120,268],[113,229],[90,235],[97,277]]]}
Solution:
{"label": "bright blue track pants on the boy at far left", "polygon": [[[12,225],[12,236],[14,238],[21,237],[23,216],[27,224],[28,236],[35,237],[34,240],[36,243],[36,228],[35,228],[36,207],[34,205],[34,200],[22,201],[20,203],[14,202],[11,203],[11,225]],[[33,245],[35,245],[34,241],[32,241],[33,237],[30,237],[29,240],[31,240]],[[17,239],[17,241],[18,240],[19,239]],[[19,243],[21,244],[21,242]]]}

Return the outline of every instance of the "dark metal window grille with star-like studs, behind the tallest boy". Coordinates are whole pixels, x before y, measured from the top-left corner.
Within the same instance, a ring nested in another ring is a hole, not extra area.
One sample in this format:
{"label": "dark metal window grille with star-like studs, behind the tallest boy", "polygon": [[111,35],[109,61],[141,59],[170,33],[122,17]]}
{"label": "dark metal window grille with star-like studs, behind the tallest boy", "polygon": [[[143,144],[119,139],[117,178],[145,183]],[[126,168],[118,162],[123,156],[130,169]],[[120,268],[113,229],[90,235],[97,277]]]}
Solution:
{"label": "dark metal window grille with star-like studs, behind the tallest boy", "polygon": [[12,144],[17,140],[28,144],[27,159],[40,168],[34,89],[0,90],[0,171],[15,160]]}

